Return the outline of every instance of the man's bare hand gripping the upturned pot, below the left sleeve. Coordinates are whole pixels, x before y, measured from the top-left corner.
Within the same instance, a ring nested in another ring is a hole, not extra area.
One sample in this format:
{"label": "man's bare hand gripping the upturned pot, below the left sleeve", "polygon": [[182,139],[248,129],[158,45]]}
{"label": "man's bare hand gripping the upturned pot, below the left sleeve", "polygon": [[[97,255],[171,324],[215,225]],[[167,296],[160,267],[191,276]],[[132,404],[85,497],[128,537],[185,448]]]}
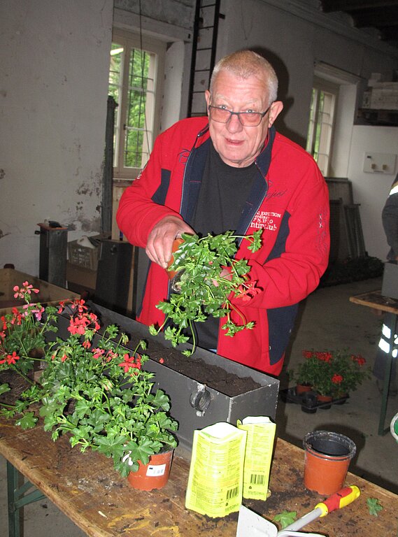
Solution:
{"label": "man's bare hand gripping the upturned pot, below the left sleeve", "polygon": [[145,252],[154,263],[167,268],[173,241],[183,233],[194,234],[192,227],[176,216],[166,216],[157,222],[148,235]]}

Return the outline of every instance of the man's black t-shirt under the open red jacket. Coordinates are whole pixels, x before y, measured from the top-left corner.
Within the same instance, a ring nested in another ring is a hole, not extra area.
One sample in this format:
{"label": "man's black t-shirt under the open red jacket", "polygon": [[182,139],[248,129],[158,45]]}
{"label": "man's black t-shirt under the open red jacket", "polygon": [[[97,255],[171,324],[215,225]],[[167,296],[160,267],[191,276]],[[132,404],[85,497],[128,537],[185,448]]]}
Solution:
{"label": "man's black t-shirt under the open red jacket", "polygon": [[[199,236],[236,230],[256,174],[254,162],[246,168],[225,164],[211,143],[191,223]],[[217,348],[218,324],[219,319],[213,317],[195,323],[199,347]]]}

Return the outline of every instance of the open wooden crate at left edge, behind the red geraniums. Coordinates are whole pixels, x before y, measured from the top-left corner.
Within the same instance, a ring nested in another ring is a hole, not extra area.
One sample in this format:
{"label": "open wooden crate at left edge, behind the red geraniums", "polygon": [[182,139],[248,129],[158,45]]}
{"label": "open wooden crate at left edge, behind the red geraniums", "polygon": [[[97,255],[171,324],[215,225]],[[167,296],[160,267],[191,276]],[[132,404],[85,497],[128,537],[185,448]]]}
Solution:
{"label": "open wooden crate at left edge, behind the red geraniums", "polygon": [[40,302],[43,305],[57,304],[66,299],[79,299],[80,295],[58,287],[52,283],[39,280],[30,274],[15,271],[14,268],[0,268],[0,315],[11,313],[12,308],[24,305],[24,300],[14,298],[15,285],[20,287],[23,282],[28,281],[39,293],[32,294],[32,301]]}

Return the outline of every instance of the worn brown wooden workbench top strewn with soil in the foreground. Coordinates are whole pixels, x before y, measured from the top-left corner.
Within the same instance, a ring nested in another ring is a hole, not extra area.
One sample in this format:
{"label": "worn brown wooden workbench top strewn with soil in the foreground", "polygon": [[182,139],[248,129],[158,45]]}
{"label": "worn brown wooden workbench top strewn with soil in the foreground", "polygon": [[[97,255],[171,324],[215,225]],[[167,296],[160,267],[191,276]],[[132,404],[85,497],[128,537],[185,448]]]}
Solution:
{"label": "worn brown wooden workbench top strewn with soil in the foreground", "polygon": [[[211,519],[185,509],[189,462],[180,455],[174,457],[164,489],[142,492],[120,478],[111,459],[72,449],[66,437],[53,442],[40,426],[22,431],[0,418],[0,453],[89,536],[236,536],[237,513]],[[392,454],[392,461],[395,458]],[[298,517],[305,515],[322,497],[304,488],[303,470],[303,450],[278,439],[271,468],[271,497],[266,502],[244,503],[269,520],[283,510],[295,510]],[[396,536],[398,496],[353,474],[348,475],[346,484],[360,487],[360,499],[308,524],[304,531],[319,531],[329,537]],[[369,515],[369,497],[377,498],[383,506],[378,517]],[[47,537],[45,528],[43,537]]]}

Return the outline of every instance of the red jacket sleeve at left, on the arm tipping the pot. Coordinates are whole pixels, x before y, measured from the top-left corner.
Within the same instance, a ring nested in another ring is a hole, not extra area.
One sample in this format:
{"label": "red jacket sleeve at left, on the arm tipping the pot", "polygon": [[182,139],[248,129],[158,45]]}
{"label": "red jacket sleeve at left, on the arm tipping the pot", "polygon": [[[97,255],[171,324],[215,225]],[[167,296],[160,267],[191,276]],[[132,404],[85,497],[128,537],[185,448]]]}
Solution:
{"label": "red jacket sleeve at left, on the arm tipping the pot", "polygon": [[[148,164],[123,192],[116,213],[120,231],[130,243],[141,248],[145,248],[148,234],[159,220],[169,215],[180,217],[178,211],[163,205],[170,180],[170,172],[162,162],[164,157],[164,136],[160,135]],[[157,199],[162,201],[157,203]]]}

